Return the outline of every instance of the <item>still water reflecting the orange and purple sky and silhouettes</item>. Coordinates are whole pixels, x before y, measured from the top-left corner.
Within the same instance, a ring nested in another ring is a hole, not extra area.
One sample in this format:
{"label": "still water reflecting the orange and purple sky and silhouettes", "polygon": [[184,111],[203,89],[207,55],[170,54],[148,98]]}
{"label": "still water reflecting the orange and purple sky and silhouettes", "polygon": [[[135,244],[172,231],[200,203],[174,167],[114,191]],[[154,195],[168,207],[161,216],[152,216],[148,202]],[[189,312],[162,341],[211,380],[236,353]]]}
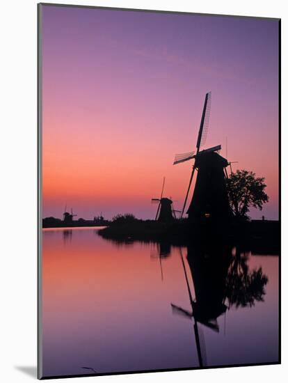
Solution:
{"label": "still water reflecting the orange and purple sky and silhouettes", "polygon": [[43,230],[44,376],[278,361],[278,256],[216,265],[98,229]]}

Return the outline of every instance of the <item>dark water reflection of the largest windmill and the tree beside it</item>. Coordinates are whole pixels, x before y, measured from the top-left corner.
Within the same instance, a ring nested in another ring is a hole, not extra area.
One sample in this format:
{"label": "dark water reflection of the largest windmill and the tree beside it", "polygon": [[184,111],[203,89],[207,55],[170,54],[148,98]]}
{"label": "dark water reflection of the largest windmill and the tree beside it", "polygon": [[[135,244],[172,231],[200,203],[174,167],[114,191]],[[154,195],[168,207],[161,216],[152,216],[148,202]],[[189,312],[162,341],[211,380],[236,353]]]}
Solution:
{"label": "dark water reflection of the largest windmill and the tree beside it", "polygon": [[[207,365],[205,339],[199,324],[219,332],[217,319],[226,313],[227,308],[253,308],[256,302],[263,302],[268,278],[262,267],[249,269],[249,251],[241,247],[223,244],[215,238],[206,243],[195,238],[187,247],[187,263],[195,291],[192,296],[187,269],[180,248],[180,258],[184,270],[191,311],[171,304],[173,313],[194,321],[195,343],[200,367]],[[224,322],[225,334],[225,322]]]}

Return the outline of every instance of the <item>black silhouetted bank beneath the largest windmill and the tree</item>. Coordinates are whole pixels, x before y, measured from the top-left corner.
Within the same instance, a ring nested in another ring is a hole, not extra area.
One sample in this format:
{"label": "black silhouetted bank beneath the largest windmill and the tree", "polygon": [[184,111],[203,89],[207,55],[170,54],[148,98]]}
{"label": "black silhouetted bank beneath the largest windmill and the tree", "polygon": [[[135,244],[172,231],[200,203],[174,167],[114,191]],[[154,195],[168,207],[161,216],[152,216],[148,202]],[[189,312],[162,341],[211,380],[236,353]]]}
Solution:
{"label": "black silhouetted bank beneath the largest windmill and the tree", "polygon": [[227,228],[211,230],[207,224],[191,226],[187,220],[161,224],[157,221],[135,221],[111,224],[100,229],[98,235],[118,243],[166,242],[175,246],[187,246],[194,240],[237,244],[243,249],[260,253],[280,253],[280,221],[251,220],[232,221]]}

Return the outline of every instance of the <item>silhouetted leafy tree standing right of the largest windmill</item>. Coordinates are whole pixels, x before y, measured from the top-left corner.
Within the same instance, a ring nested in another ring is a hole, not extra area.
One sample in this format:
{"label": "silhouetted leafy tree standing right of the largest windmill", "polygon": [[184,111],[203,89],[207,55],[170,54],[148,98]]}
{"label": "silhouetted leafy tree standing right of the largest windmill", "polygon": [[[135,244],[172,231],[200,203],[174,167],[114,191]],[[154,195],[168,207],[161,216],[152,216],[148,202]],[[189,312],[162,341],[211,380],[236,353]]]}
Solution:
{"label": "silhouetted leafy tree standing right of the largest windmill", "polygon": [[230,205],[235,216],[248,218],[249,208],[262,210],[264,203],[269,201],[269,196],[264,192],[265,178],[257,178],[253,171],[237,170],[227,178],[227,191]]}

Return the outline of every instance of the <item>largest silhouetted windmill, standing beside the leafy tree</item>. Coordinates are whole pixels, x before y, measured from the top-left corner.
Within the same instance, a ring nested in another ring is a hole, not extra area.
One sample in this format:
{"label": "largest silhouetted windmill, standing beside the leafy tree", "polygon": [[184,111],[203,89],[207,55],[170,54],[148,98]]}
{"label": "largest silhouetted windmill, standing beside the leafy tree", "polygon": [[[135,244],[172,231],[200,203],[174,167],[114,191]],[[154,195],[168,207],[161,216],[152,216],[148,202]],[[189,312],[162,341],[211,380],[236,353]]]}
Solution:
{"label": "largest silhouetted windmill, standing beside the leafy tree", "polygon": [[202,217],[221,217],[225,219],[230,216],[230,206],[225,186],[225,173],[223,169],[228,166],[227,159],[218,155],[221,145],[200,150],[206,142],[209,116],[211,109],[211,92],[206,93],[205,102],[202,111],[202,118],[196,142],[196,150],[175,155],[173,165],[195,159],[192,167],[191,177],[188,189],[184,199],[184,205],[181,212],[183,217],[186,202],[193,180],[195,170],[198,171],[197,180],[193,192],[193,198],[187,213],[191,221],[199,221]]}

